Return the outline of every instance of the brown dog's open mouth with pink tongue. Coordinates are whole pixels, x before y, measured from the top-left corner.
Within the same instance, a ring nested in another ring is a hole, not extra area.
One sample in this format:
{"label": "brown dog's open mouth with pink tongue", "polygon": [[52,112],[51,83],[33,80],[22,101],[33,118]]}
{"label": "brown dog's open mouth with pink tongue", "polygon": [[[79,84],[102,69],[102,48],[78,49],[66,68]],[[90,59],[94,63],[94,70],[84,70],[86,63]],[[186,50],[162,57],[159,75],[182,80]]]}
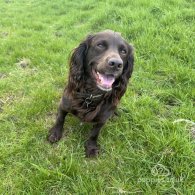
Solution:
{"label": "brown dog's open mouth with pink tongue", "polygon": [[94,71],[97,86],[103,91],[111,91],[112,84],[115,81],[114,75],[111,74],[103,74],[98,71]]}

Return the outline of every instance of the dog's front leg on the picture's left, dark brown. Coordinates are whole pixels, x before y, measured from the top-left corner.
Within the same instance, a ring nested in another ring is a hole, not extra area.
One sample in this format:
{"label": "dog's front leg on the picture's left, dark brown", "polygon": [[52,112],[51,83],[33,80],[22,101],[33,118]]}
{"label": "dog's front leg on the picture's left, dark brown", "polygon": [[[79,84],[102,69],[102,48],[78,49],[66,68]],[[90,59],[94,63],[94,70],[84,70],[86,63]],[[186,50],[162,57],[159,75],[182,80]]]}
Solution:
{"label": "dog's front leg on the picture's left, dark brown", "polygon": [[49,130],[48,141],[50,143],[55,143],[62,137],[64,120],[67,113],[68,112],[64,111],[61,106],[59,106],[56,122],[54,126]]}

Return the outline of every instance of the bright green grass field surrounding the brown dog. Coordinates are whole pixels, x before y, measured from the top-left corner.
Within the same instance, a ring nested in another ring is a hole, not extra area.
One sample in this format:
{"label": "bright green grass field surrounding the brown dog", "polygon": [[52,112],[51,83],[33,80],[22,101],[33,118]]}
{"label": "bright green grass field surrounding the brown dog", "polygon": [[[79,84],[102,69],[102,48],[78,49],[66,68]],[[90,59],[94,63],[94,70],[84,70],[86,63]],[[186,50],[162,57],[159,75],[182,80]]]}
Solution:
{"label": "bright green grass field surrounding the brown dog", "polygon": [[[0,194],[195,194],[195,3],[192,0],[0,1]],[[87,35],[119,31],[135,70],[84,157],[90,125],[69,116],[46,141],[71,50]],[[174,121],[176,121],[174,123]]]}

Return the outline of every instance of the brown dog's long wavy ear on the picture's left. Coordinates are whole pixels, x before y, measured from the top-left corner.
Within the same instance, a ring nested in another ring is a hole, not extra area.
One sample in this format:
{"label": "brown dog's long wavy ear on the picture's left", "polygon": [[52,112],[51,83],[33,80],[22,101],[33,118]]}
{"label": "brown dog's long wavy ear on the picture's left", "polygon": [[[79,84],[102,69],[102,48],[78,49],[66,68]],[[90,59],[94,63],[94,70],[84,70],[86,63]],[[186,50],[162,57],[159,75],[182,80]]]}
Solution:
{"label": "brown dog's long wavy ear on the picture's left", "polygon": [[84,79],[84,61],[93,35],[87,38],[75,48],[70,57],[69,89],[79,88]]}

